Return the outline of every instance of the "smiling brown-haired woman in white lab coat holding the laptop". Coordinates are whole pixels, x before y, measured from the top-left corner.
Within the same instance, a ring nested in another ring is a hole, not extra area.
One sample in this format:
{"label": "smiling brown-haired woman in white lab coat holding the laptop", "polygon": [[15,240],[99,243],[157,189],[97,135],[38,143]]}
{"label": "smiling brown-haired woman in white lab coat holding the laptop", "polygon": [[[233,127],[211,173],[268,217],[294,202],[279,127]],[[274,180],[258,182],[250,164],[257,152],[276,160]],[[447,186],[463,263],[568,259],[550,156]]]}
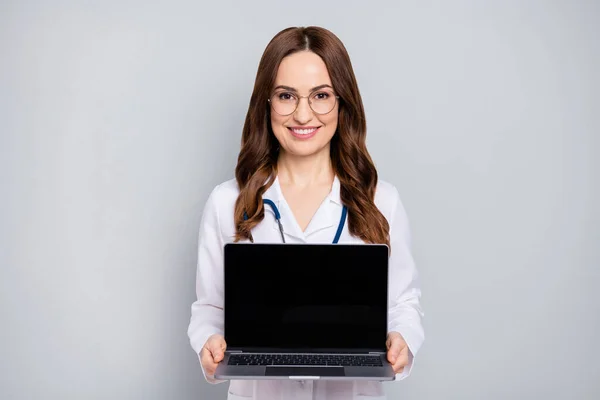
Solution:
{"label": "smiling brown-haired woman in white lab coat holding the laptop", "polygon": [[[223,338],[223,246],[227,242],[331,243],[342,207],[339,243],[390,246],[388,360],[403,379],[423,343],[417,271],[398,191],[378,181],[365,146],[366,123],[342,42],[318,28],[289,28],[268,44],[258,67],[235,179],[210,194],[201,221],[197,296],[188,334],[208,382]],[[284,233],[275,228],[277,204]],[[379,398],[380,382],[233,380],[229,399]]]}

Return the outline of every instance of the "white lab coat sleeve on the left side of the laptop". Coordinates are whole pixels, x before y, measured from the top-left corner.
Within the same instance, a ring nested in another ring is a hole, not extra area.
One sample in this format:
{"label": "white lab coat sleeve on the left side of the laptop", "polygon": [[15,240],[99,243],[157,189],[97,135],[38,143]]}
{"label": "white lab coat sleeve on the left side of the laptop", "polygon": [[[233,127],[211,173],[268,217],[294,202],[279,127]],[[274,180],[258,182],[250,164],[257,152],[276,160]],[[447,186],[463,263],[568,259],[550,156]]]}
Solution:
{"label": "white lab coat sleeve on the left side of the laptop", "polygon": [[[198,235],[196,301],[191,307],[188,336],[199,360],[208,338],[215,333],[223,335],[223,236],[217,208],[218,191],[217,186],[206,201]],[[204,368],[202,373],[209,383],[223,382],[207,376]]]}

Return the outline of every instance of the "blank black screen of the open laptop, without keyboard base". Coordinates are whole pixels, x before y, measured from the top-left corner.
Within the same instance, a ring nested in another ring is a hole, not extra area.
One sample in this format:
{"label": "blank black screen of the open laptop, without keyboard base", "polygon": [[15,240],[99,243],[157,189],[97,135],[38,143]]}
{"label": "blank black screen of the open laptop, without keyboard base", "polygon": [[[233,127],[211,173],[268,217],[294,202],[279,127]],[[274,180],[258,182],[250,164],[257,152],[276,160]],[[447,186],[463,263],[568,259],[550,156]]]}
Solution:
{"label": "blank black screen of the open laptop, without keyboard base", "polygon": [[228,244],[225,340],[252,351],[385,351],[388,248]]}

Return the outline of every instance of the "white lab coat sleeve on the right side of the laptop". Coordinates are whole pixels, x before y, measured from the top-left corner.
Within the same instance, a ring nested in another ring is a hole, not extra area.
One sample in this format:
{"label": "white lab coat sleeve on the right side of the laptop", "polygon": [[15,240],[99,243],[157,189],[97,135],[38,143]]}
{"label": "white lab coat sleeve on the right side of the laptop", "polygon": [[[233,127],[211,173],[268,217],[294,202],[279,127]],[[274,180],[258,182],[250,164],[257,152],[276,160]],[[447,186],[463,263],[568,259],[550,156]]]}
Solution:
{"label": "white lab coat sleeve on the right side of the laptop", "polygon": [[424,316],[420,305],[421,289],[415,262],[411,254],[411,233],[408,217],[394,188],[394,206],[390,222],[390,307],[388,331],[402,335],[409,348],[409,363],[396,380],[410,375],[414,358],[425,340],[421,322]]}

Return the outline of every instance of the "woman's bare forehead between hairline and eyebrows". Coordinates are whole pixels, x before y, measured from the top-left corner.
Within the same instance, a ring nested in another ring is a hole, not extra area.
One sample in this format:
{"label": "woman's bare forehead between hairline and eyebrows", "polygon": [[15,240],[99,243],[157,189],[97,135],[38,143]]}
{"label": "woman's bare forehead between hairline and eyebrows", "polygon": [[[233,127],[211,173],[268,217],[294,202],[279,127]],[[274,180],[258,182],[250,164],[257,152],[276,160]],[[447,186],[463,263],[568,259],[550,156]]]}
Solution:
{"label": "woman's bare forehead between hairline and eyebrows", "polygon": [[325,62],[312,51],[301,51],[281,60],[275,86],[291,86],[298,90],[310,90],[319,85],[331,85]]}

